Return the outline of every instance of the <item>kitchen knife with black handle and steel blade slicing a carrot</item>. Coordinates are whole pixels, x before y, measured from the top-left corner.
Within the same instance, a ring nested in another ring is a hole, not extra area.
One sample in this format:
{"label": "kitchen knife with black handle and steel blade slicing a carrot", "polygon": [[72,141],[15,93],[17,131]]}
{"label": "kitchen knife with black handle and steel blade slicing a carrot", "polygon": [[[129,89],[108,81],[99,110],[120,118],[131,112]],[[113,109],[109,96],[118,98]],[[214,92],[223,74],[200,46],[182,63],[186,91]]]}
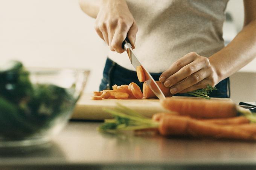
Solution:
{"label": "kitchen knife with black handle and steel blade slicing a carrot", "polygon": [[163,94],[162,90],[159,88],[155,80],[152,78],[152,76],[149,74],[149,72],[145,69],[145,67],[139,62],[138,57],[134,54],[133,48],[126,37],[125,41],[123,41],[122,47],[125,49],[125,51],[128,54],[128,57],[130,59],[131,64],[136,69],[137,66],[141,66],[144,74],[145,74],[145,83],[149,86],[149,88],[152,90],[152,92],[158,97],[158,99],[163,100],[165,99],[165,95]]}

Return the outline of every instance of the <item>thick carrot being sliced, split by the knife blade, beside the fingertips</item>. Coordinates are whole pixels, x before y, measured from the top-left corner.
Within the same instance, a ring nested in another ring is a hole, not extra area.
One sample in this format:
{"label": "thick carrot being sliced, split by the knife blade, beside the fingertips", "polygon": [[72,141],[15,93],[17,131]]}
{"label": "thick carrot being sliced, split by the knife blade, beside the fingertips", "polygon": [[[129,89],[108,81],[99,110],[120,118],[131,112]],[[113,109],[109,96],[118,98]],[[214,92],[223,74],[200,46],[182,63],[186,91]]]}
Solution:
{"label": "thick carrot being sliced, split by the knife blade, beside the fingertips", "polygon": [[[168,87],[165,87],[160,81],[156,81],[156,83],[165,96],[171,96],[170,89]],[[142,91],[145,99],[157,97],[145,82],[143,83]]]}

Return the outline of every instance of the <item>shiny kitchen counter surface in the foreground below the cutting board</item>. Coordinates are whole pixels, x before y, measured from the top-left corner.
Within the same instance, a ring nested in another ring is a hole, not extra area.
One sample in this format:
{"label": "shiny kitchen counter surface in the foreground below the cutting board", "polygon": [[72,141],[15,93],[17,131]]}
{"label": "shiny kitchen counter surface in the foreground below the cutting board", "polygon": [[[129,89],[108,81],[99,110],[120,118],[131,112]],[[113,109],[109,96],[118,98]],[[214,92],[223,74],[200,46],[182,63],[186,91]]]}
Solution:
{"label": "shiny kitchen counter surface in the foreground below the cutting board", "polygon": [[256,168],[256,143],[101,134],[101,122],[71,121],[52,142],[0,149],[0,169]]}

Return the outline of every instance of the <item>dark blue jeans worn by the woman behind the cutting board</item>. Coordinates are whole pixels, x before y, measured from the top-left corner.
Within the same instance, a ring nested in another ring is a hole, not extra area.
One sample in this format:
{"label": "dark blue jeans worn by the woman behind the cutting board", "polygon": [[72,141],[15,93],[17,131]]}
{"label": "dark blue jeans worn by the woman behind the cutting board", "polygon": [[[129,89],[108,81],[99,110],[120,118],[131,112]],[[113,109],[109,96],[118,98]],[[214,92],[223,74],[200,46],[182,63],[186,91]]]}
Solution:
{"label": "dark blue jeans worn by the woman behind the cutting board", "polygon": [[[162,73],[150,73],[155,81],[159,81],[159,77]],[[117,84],[117,86],[120,86],[122,84],[130,84],[131,82],[134,82],[138,84],[140,89],[142,89],[143,83],[140,83],[136,71],[131,71],[126,68],[123,68],[122,66],[118,65],[117,63],[113,62],[109,58],[107,58],[105,68],[103,71],[103,78],[101,80],[101,84],[99,86],[99,90],[104,89],[112,89],[112,86],[114,84]],[[216,86],[218,90],[213,90],[212,93],[210,93],[210,97],[214,98],[229,98],[229,78],[226,78],[222,81],[220,81]],[[175,94],[175,96],[191,96],[189,94]]]}

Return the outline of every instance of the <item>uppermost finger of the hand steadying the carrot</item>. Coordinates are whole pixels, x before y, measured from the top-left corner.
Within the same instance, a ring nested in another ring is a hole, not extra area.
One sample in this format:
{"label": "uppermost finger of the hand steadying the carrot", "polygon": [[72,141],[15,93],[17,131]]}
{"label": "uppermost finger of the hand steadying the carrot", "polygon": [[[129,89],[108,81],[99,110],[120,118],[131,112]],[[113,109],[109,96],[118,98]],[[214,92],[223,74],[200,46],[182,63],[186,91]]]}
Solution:
{"label": "uppermost finger of the hand steadying the carrot", "polygon": [[179,71],[184,66],[193,62],[197,56],[198,54],[195,52],[186,54],[184,57],[174,62],[165,72],[163,72],[162,75],[160,75],[159,81],[164,83],[168,77]]}

